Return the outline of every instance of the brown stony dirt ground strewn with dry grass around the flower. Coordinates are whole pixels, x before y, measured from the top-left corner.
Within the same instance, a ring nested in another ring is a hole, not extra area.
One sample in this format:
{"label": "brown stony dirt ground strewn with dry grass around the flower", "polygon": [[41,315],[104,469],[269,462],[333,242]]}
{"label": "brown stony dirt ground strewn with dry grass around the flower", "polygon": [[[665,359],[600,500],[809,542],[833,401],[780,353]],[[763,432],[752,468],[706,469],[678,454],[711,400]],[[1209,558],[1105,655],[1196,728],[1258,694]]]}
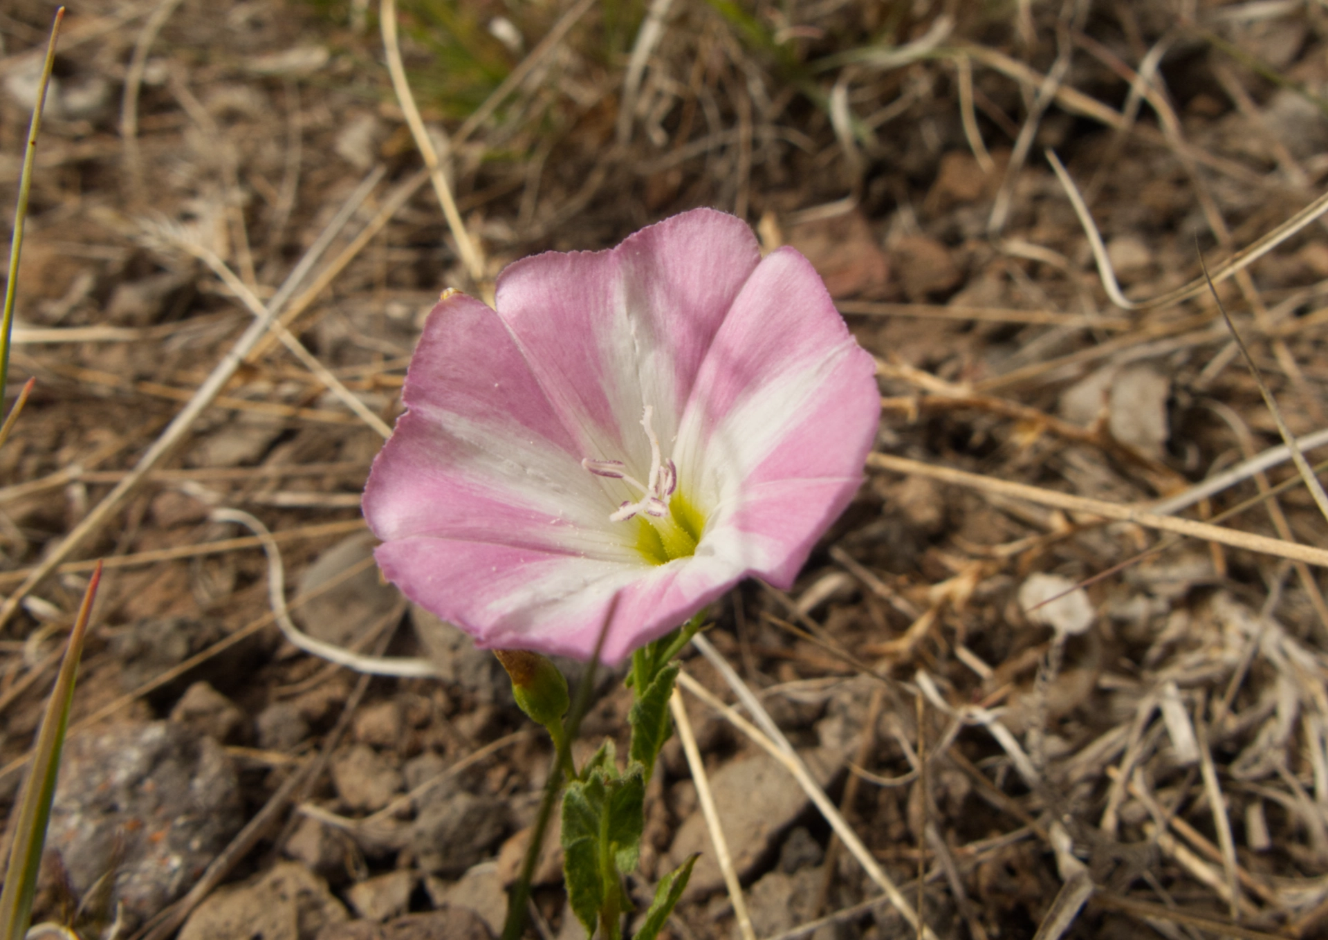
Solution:
{"label": "brown stony dirt ground strewn with dry grass around the flower", "polygon": [[[5,206],[52,13],[0,7]],[[879,872],[688,693],[754,936],[915,936],[882,879],[944,939],[1328,936],[1328,524],[1284,457],[1246,463],[1280,438],[1231,332],[1291,433],[1328,428],[1328,238],[1224,266],[1328,178],[1323,3],[401,0],[469,262],[380,15],[70,5],[5,400],[36,390],[0,449],[7,806],[108,570],[39,917],[497,933],[548,747],[487,653],[378,582],[359,494],[440,289],[713,206],[813,260],[883,396],[795,589],[742,584],[716,659],[684,656],[722,701],[717,663],[756,692]],[[208,392],[264,307],[292,341]],[[438,677],[301,652],[274,578],[300,629]],[[629,693],[599,688],[578,746],[625,730]],[[726,940],[692,781],[671,742],[631,891],[705,851],[667,931]],[[530,931],[572,940],[555,855]]]}

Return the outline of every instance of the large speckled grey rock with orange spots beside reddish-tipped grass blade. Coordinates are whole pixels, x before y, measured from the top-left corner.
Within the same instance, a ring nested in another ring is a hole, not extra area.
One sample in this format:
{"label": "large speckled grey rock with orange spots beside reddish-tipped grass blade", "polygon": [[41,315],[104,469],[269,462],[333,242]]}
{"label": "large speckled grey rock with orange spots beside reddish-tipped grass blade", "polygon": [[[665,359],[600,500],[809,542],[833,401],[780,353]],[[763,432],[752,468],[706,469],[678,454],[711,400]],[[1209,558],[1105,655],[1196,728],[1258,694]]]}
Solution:
{"label": "large speckled grey rock with orange spots beside reddish-tipped grass blade", "polygon": [[126,725],[65,744],[46,834],[73,888],[113,874],[126,929],[193,886],[244,823],[235,770],[212,738]]}

